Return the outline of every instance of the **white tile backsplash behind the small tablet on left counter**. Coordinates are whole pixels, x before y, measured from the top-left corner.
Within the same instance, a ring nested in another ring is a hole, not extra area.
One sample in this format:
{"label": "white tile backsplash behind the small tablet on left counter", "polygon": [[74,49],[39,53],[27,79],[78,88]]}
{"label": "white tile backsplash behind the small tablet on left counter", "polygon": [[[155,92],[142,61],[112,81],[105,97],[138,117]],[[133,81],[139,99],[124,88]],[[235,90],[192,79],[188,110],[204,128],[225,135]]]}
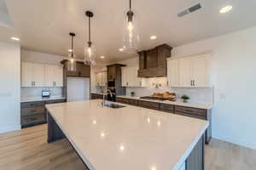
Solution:
{"label": "white tile backsplash behind the small tablet on left counter", "polygon": [[62,96],[62,88],[20,88],[20,97],[21,99],[41,97],[42,90],[49,90],[51,96]]}

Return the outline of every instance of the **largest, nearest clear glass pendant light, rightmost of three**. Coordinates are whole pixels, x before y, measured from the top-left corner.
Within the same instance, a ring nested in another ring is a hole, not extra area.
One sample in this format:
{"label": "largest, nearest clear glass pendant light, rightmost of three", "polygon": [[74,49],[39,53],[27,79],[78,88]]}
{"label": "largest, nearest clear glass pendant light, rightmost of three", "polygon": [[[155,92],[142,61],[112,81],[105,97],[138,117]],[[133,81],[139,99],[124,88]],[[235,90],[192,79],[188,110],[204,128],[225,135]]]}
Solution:
{"label": "largest, nearest clear glass pendant light, rightmost of three", "polygon": [[131,0],[130,9],[125,16],[123,31],[123,44],[119,51],[123,51],[128,54],[136,54],[140,39],[137,20],[134,17],[134,12],[131,10]]}

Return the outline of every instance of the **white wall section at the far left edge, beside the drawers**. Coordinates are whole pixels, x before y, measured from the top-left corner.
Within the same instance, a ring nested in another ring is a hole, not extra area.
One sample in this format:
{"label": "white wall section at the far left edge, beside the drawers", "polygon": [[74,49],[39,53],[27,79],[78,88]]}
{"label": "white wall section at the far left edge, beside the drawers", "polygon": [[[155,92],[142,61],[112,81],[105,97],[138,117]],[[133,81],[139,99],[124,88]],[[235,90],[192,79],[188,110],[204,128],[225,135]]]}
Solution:
{"label": "white wall section at the far left edge, beside the drawers", "polygon": [[0,133],[20,129],[20,45],[0,42]]}

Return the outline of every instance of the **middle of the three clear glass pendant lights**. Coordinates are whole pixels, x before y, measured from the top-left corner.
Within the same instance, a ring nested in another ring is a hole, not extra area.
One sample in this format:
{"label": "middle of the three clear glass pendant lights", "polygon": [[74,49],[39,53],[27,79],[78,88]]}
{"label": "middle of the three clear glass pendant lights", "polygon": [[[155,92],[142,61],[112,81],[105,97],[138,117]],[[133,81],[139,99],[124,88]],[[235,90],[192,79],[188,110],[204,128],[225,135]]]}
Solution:
{"label": "middle of the three clear glass pendant lights", "polygon": [[93,13],[91,11],[86,11],[85,15],[89,19],[89,41],[87,42],[87,46],[84,48],[84,64],[85,65],[96,65],[96,47],[94,43],[90,41],[90,18],[93,17]]}

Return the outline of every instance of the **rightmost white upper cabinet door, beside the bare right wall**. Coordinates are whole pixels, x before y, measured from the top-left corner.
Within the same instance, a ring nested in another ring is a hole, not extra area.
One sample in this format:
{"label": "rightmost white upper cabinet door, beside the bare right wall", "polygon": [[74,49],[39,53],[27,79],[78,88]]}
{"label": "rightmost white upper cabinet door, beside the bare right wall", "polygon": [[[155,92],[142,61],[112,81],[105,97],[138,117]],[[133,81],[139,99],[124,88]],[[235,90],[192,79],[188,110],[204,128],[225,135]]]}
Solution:
{"label": "rightmost white upper cabinet door, beside the bare right wall", "polygon": [[193,87],[208,87],[209,86],[209,65],[208,57],[201,55],[193,58]]}

